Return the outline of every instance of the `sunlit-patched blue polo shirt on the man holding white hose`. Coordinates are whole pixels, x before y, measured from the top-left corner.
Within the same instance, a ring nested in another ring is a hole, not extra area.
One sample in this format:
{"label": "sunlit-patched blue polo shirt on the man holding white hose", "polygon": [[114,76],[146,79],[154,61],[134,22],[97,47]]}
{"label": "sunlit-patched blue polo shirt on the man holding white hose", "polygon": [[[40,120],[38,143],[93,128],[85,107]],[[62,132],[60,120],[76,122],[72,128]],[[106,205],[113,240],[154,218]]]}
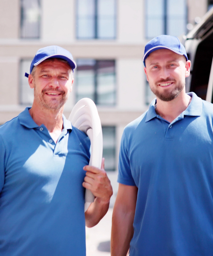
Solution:
{"label": "sunlit-patched blue polo shirt on the man holding white hose", "polygon": [[0,126],[0,255],[86,255],[90,141],[63,116],[55,143],[28,108]]}

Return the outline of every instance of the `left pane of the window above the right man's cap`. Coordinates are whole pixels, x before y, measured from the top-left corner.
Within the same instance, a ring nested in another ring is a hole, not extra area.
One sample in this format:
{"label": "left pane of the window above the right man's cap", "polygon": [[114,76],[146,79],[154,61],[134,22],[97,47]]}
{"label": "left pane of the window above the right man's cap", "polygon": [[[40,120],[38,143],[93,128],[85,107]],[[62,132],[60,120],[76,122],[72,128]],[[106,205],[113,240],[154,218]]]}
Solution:
{"label": "left pane of the window above the right man's cap", "polygon": [[164,34],[163,0],[146,1],[146,37],[153,38]]}

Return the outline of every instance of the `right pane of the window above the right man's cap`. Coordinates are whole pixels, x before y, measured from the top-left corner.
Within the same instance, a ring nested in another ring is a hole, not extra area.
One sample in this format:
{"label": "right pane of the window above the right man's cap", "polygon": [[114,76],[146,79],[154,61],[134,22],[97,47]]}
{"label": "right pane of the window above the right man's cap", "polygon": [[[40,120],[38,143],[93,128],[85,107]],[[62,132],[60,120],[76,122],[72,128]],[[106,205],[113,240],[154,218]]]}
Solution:
{"label": "right pane of the window above the right man's cap", "polygon": [[167,34],[180,36],[186,32],[185,0],[167,0]]}

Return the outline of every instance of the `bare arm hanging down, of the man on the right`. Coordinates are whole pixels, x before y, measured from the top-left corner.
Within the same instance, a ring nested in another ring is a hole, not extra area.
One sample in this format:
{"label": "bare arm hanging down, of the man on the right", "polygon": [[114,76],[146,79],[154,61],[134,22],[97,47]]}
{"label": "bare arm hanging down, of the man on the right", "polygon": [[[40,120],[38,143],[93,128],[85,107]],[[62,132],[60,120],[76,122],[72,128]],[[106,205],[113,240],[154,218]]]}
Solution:
{"label": "bare arm hanging down, of the man on the right", "polygon": [[137,187],[119,184],[113,208],[111,256],[126,256],[132,239]]}

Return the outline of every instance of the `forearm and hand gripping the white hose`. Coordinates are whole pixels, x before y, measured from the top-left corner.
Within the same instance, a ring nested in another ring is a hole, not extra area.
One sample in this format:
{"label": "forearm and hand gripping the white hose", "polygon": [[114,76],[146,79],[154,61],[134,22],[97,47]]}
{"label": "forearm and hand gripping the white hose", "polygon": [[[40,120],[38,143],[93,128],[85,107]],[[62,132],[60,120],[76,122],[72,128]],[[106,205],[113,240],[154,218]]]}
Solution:
{"label": "forearm and hand gripping the white hose", "polygon": [[95,196],[94,202],[90,204],[85,212],[86,226],[93,227],[107,213],[113,189],[104,170],[104,158],[102,159],[101,169],[89,165],[84,166],[83,169],[86,171],[86,176],[82,186],[90,189]]}

